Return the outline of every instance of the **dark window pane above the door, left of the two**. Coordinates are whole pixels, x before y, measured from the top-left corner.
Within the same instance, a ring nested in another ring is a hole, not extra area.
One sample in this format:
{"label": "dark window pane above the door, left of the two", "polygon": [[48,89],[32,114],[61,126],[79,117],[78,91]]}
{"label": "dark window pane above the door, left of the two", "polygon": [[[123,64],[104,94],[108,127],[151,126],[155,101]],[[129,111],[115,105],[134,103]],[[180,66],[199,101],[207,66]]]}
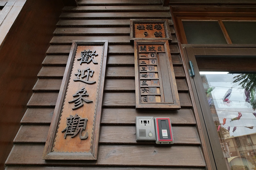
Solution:
{"label": "dark window pane above the door, left of the two", "polygon": [[218,21],[182,21],[188,44],[227,44]]}

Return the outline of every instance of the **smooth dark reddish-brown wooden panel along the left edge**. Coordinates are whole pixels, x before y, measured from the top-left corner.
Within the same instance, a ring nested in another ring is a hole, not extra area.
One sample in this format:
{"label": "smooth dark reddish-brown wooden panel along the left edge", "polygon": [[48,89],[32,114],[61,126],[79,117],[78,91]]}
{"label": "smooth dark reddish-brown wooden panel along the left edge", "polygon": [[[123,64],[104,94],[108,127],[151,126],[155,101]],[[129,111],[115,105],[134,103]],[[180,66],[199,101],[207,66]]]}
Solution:
{"label": "smooth dark reddish-brown wooden panel along the left edge", "polygon": [[[24,1],[20,1],[18,5],[23,4]],[[27,0],[1,44],[0,169],[4,169],[4,162],[13,147],[13,139],[27,110],[31,89],[37,81],[62,7],[62,2],[58,0]],[[15,12],[11,11],[8,15],[14,17]]]}

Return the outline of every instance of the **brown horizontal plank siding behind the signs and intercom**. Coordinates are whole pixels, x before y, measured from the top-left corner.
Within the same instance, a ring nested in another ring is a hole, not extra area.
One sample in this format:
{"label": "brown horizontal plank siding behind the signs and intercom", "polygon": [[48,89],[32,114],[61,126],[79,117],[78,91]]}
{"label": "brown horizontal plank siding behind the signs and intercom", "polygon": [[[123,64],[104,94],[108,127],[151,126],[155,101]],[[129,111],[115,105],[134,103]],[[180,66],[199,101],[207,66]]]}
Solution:
{"label": "brown horizontal plank siding behind the signs and intercom", "polygon": [[[6,165],[14,169],[163,169],[202,170],[201,151],[193,107],[169,7],[161,0],[80,0],[64,7],[50,41],[38,81],[33,88],[14,147]],[[135,110],[134,45],[131,18],[167,18],[172,33],[170,52],[181,109]],[[42,152],[73,40],[109,40],[98,160],[47,161]],[[174,144],[136,142],[136,116],[170,117]],[[74,167],[73,165],[76,165]],[[58,167],[61,166],[61,167]],[[128,168],[127,168],[128,166]]]}

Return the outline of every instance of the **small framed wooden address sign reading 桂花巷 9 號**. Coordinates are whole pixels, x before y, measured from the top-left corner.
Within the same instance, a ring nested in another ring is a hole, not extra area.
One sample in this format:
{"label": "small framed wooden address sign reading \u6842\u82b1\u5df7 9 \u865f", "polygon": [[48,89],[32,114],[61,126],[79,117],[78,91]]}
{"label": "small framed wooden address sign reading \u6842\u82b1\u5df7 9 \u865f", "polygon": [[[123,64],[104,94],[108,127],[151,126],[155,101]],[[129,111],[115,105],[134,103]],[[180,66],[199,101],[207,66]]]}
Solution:
{"label": "small framed wooden address sign reading \u6842\u82b1\u5df7 9 \u865f", "polygon": [[172,40],[167,19],[130,19],[130,40]]}

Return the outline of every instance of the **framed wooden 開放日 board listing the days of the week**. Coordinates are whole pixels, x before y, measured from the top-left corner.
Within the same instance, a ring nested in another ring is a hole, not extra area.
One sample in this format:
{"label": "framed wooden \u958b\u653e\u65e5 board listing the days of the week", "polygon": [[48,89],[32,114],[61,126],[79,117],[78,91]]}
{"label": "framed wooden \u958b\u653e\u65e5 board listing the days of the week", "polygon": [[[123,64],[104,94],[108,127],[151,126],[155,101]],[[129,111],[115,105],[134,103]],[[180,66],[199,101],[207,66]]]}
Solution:
{"label": "framed wooden \u958b\u653e\u65e5 board listing the days of the week", "polygon": [[137,108],[180,109],[168,41],[134,41]]}

